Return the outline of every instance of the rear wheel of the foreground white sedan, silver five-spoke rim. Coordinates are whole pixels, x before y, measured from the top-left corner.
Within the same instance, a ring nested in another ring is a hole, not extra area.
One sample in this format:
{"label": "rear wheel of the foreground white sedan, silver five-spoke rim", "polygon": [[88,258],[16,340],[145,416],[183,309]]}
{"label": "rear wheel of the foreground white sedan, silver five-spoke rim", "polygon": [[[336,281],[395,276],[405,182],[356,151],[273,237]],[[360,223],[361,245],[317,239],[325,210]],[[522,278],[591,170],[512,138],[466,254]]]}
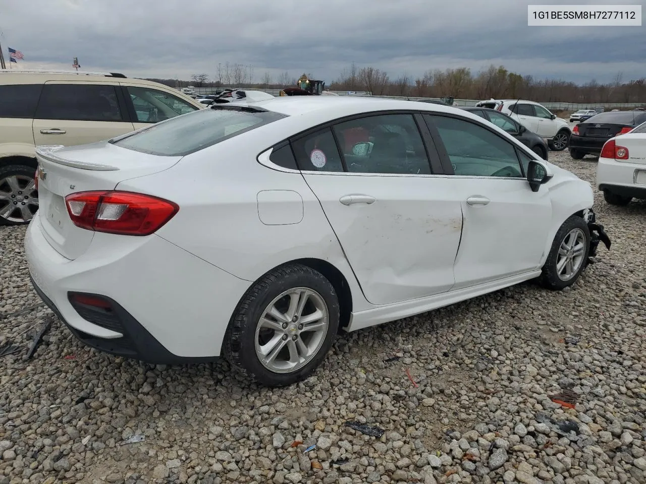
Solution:
{"label": "rear wheel of the foreground white sedan, silver five-spoke rim", "polygon": [[[300,297],[306,300],[301,315],[322,314],[316,320],[320,330],[307,331],[304,324],[313,323],[300,323],[297,315],[286,317],[290,312],[289,301],[296,297],[292,294],[300,294],[299,302]],[[269,315],[271,308],[275,311]],[[238,303],[224,338],[225,358],[266,387],[302,381],[326,358],[337,335],[339,314],[337,293],[320,272],[300,264],[277,268],[258,279]],[[294,358],[295,351],[298,358]],[[261,361],[262,356],[271,356],[273,352],[276,352],[273,360]],[[302,353],[306,357],[300,361]]]}

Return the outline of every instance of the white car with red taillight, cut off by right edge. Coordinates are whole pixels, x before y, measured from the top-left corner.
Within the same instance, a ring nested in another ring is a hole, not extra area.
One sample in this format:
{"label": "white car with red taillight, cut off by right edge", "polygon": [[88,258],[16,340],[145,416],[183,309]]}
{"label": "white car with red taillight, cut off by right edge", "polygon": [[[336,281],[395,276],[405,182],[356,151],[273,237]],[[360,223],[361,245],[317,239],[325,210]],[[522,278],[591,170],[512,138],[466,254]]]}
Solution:
{"label": "white car with red taillight, cut off by right edge", "polygon": [[597,188],[612,205],[646,199],[646,123],[605,142],[597,165]]}

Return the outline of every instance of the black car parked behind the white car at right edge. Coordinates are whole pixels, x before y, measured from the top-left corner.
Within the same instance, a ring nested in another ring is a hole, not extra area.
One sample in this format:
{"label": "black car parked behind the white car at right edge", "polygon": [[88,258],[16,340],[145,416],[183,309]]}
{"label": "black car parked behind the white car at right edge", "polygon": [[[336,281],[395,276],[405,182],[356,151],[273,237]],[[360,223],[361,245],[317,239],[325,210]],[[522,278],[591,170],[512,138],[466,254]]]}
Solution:
{"label": "black car parked behind the white car at right edge", "polygon": [[646,121],[646,112],[607,111],[574,126],[570,136],[570,156],[581,159],[587,154],[599,156],[611,137],[625,134]]}

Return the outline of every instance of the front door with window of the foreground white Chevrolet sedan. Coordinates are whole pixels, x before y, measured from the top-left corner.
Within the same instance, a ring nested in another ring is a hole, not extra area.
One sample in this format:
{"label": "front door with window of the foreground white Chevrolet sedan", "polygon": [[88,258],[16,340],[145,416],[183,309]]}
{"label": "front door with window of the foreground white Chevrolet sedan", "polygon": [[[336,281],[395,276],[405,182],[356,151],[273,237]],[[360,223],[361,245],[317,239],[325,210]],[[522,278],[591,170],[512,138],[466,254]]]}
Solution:
{"label": "front door with window of the foreground white Chevrolet sedan", "polygon": [[552,204],[548,190],[532,192],[523,175],[529,157],[483,125],[441,115],[428,119],[453,166],[464,214],[453,289],[539,268]]}

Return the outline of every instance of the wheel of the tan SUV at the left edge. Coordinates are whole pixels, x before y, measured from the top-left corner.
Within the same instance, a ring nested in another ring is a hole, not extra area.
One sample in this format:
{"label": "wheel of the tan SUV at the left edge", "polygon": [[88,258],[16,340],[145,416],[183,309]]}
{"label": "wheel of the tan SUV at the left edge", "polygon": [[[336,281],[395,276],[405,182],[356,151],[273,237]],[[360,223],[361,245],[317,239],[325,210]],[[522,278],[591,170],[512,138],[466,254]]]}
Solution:
{"label": "wheel of the tan SUV at the left edge", "polygon": [[38,210],[35,172],[25,165],[0,166],[0,225],[25,225],[33,218]]}

